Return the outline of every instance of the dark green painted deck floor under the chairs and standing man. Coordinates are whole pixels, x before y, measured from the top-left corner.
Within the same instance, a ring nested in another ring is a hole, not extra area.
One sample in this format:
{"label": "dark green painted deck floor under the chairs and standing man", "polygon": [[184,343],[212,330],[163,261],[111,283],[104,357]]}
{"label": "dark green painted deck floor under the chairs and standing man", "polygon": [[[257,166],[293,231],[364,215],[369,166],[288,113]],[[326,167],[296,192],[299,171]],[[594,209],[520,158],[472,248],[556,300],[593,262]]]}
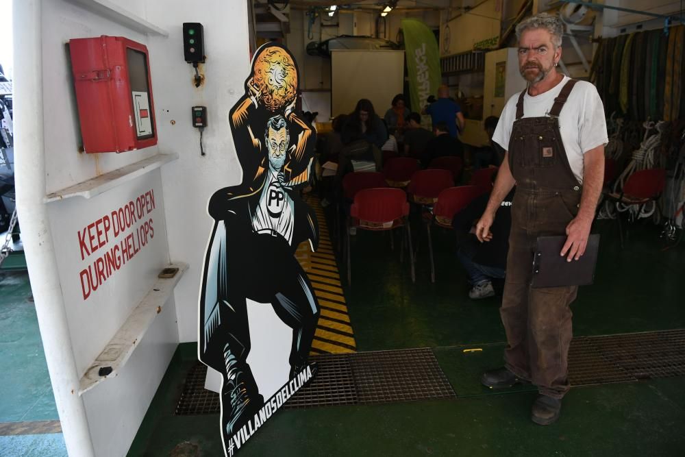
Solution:
{"label": "dark green painted deck floor under the chairs and standing man", "polygon": [[[685,328],[679,287],[685,244],[662,251],[658,227],[638,223],[622,250],[614,223],[601,221],[597,229],[603,237],[597,285],[582,288],[573,305],[574,334]],[[572,388],[560,420],[548,427],[530,421],[536,395],[530,387],[503,393],[482,387],[479,373],[502,360],[500,298],[466,297],[449,232],[434,233],[432,284],[425,232],[415,236],[416,284],[388,236],[358,232],[353,238],[352,286],[345,295],[357,349],[431,347],[458,397],[280,410],[236,455],[682,455],[685,378]],[[464,347],[484,351],[464,356]],[[179,345],[130,456],[221,455],[218,415],[172,415],[195,356],[194,343]]]}

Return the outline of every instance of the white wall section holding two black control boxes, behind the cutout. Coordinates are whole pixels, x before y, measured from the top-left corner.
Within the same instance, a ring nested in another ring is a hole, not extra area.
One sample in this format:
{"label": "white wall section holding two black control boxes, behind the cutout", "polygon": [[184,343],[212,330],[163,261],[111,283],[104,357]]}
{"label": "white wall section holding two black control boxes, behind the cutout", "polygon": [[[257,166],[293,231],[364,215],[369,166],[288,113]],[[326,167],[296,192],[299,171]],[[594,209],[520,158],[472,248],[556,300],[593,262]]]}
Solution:
{"label": "white wall section holding two black control boxes, behind the cutout", "polygon": [[[149,38],[155,90],[159,147],[179,153],[162,169],[162,186],[172,259],[188,262],[175,288],[181,343],[197,341],[197,304],[204,254],[213,221],[207,203],[215,190],[239,184],[242,170],[228,123],[228,112],[245,93],[251,68],[246,1],[202,2],[147,0],[148,21],[169,32],[169,38]],[[191,64],[184,61],[182,24],[204,28],[204,84],[195,88]],[[203,132],[206,156],[200,156],[199,132],[192,127],[190,107],[206,106]]]}

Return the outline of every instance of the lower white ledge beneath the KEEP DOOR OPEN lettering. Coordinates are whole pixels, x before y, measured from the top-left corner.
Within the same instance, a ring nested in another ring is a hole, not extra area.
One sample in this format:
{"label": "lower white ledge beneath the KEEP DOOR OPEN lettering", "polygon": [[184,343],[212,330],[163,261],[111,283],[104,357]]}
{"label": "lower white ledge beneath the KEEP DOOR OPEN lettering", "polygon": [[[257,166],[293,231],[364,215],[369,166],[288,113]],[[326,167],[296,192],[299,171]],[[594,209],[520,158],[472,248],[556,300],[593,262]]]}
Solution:
{"label": "lower white ledge beneath the KEEP DOOR OPEN lettering", "polygon": [[[159,278],[140,301],[140,304],[129,314],[119,331],[114,334],[114,337],[81,378],[79,395],[83,395],[108,378],[114,378],[126,365],[157,314],[162,312],[162,308],[171,297],[176,284],[188,269],[188,264],[177,262],[169,265],[169,268],[178,268],[178,272],[171,278]],[[103,369],[105,374],[101,375],[100,369]]]}

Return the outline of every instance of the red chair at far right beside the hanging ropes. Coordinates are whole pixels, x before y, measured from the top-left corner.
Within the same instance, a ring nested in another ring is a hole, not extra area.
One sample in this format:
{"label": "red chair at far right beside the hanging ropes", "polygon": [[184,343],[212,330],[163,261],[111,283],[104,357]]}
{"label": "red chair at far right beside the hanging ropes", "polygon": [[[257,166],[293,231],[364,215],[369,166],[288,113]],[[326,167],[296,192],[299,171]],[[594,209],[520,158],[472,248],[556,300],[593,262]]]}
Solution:
{"label": "red chair at far right beside the hanging ropes", "polygon": [[[656,210],[661,212],[657,200],[661,197],[664,186],[666,186],[666,170],[639,170],[628,176],[625,184],[623,184],[621,193],[610,193],[606,195],[606,199],[625,206],[638,205],[640,207],[638,214],[642,212],[647,203],[653,201],[656,205]],[[616,214],[616,222],[619,224],[619,236],[621,237],[621,247],[623,247],[623,228],[621,227],[620,212]]]}

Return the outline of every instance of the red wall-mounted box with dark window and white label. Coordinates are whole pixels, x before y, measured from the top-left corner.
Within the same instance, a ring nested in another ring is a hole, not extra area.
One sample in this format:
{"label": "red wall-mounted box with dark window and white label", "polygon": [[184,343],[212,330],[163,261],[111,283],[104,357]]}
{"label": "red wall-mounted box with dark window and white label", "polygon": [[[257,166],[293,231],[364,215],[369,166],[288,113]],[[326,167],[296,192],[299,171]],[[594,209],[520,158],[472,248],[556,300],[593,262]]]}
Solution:
{"label": "red wall-mounted box with dark window and white label", "polygon": [[147,47],[121,36],[69,40],[87,153],[157,144]]}

